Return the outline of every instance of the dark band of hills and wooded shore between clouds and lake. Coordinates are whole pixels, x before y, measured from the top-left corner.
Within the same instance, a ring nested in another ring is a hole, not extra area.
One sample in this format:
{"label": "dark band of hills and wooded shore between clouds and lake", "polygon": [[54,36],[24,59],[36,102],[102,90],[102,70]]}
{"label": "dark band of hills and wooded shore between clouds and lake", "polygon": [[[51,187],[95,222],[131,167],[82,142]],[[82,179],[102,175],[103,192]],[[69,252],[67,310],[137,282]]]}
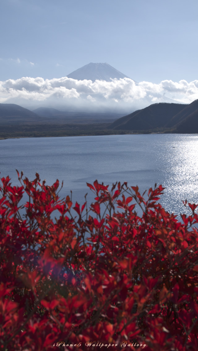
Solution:
{"label": "dark band of hills and wooded shore between clouds and lake", "polygon": [[[0,104],[0,125],[1,130],[3,128],[5,132],[6,129],[8,131],[9,127],[14,125],[16,127],[22,126],[22,128],[24,125],[34,125],[36,127],[34,132],[40,132],[42,124],[45,125],[45,132],[47,129],[48,133],[57,128],[57,125],[60,125],[59,133],[62,133],[64,125],[67,132],[68,128],[70,129],[70,135],[76,133],[74,129],[76,129],[77,124],[81,124],[81,126],[84,124],[84,127],[77,127],[81,129],[81,131],[78,130],[78,135],[79,133],[84,135],[88,132],[94,132],[96,135],[108,134],[109,131],[111,134],[114,131],[118,131],[118,133],[120,131],[121,134],[128,132],[198,133],[198,100],[191,102],[191,104],[160,102],[123,117],[114,113],[61,112],[49,107],[40,107],[32,112],[19,105]],[[84,129],[82,130],[82,128]]]}

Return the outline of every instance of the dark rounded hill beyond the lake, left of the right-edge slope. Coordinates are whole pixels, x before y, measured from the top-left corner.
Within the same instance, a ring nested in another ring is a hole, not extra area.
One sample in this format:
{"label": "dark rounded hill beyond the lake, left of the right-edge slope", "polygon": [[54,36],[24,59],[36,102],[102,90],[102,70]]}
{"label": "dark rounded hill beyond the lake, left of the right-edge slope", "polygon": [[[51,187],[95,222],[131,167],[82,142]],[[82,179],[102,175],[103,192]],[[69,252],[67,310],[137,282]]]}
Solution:
{"label": "dark rounded hill beyond the lake, left of the right-edge slope", "polygon": [[109,128],[116,130],[148,130],[161,128],[186,106],[187,105],[183,104],[169,104],[167,102],[152,104],[142,110],[135,111],[117,119],[109,125]]}

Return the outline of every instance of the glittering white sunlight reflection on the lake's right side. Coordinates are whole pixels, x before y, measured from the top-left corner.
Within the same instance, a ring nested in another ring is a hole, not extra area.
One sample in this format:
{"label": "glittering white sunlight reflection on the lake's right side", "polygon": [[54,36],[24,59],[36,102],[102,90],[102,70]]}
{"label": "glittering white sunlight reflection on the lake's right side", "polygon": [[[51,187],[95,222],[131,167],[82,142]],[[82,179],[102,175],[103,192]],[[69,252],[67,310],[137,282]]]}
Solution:
{"label": "glittering white sunlight reflection on the lake's right side", "polygon": [[174,140],[166,145],[171,152],[164,153],[166,190],[162,203],[167,211],[176,206],[177,212],[174,212],[186,213],[182,200],[198,203],[198,135],[172,134],[170,137],[173,135]]}

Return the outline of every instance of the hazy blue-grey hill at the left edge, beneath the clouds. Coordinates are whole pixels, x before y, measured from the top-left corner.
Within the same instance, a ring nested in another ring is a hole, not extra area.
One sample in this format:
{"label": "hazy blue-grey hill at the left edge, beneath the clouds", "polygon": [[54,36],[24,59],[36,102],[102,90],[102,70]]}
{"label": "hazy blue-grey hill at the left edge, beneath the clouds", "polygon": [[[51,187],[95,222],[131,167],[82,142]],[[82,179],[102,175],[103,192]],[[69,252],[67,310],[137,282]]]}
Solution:
{"label": "hazy blue-grey hill at the left edge, beneath the clouds", "polygon": [[16,104],[0,104],[0,124],[15,124],[40,121],[40,117]]}

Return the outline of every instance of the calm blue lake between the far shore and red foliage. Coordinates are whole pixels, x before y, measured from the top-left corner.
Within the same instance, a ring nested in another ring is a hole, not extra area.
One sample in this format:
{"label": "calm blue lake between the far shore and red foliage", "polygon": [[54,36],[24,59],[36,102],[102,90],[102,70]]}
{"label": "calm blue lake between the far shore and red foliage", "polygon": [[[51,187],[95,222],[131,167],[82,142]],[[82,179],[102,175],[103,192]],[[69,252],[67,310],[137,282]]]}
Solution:
{"label": "calm blue lake between the far shore and red foliage", "polygon": [[[127,181],[143,192],[154,184],[166,189],[160,203],[169,212],[187,213],[182,200],[198,203],[198,135],[136,134],[0,140],[0,176],[18,183],[15,169],[51,185],[64,181],[61,196],[92,200],[86,182]],[[190,212],[189,212],[190,213]]]}

